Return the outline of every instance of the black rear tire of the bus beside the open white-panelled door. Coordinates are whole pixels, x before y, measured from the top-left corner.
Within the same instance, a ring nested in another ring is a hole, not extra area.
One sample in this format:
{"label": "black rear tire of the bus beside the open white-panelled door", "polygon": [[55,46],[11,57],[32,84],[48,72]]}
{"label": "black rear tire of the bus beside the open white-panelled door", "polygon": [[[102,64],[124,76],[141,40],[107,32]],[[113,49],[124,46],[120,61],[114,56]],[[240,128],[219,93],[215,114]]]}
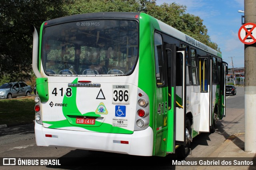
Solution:
{"label": "black rear tire of the bus beside the open white-panelled door", "polygon": [[[191,123],[188,117],[186,117],[186,129],[188,129],[189,135],[190,135],[190,140],[191,140]],[[179,158],[186,158],[190,152],[190,145],[191,141],[188,140],[186,145],[181,145],[177,150],[178,151],[178,157]]]}

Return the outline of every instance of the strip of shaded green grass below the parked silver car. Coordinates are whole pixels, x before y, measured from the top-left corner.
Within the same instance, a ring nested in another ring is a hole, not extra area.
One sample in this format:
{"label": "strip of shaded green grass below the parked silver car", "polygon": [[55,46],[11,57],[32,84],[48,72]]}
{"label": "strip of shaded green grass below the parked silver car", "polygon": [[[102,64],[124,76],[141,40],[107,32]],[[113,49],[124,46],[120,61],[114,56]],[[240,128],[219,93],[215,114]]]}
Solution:
{"label": "strip of shaded green grass below the parked silver car", "polygon": [[34,97],[0,100],[0,125],[32,122],[35,119]]}

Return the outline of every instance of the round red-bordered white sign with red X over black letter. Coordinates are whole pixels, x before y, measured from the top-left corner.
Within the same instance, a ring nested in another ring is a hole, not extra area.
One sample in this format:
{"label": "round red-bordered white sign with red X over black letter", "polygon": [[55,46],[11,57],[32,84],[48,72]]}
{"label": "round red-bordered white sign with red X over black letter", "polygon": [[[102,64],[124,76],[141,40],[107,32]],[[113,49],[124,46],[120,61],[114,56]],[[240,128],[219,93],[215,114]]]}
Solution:
{"label": "round red-bordered white sign with red X over black letter", "polygon": [[256,24],[255,23],[245,23],[240,27],[238,31],[238,37],[240,41],[244,44],[256,43]]}

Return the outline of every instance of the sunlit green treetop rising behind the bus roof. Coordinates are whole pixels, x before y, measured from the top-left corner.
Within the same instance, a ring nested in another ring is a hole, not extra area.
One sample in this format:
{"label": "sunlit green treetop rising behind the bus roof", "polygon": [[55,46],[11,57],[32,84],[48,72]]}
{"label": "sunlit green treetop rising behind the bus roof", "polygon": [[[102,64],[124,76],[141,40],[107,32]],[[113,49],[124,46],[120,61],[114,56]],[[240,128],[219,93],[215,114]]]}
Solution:
{"label": "sunlit green treetop rising behind the bus roof", "polygon": [[183,5],[163,3],[158,6],[156,0],[71,0],[70,4],[64,6],[69,15],[89,12],[144,12],[220,52],[218,45],[210,40],[203,20],[185,13],[186,6]]}

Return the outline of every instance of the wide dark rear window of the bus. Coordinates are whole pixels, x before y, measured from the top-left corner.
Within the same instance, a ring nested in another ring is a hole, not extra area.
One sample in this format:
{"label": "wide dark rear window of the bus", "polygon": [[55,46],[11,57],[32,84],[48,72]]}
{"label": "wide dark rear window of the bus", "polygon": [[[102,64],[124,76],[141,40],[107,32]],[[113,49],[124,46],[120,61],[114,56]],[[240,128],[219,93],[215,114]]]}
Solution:
{"label": "wide dark rear window of the bus", "polygon": [[138,22],[86,20],[45,27],[46,74],[130,74],[138,56]]}

